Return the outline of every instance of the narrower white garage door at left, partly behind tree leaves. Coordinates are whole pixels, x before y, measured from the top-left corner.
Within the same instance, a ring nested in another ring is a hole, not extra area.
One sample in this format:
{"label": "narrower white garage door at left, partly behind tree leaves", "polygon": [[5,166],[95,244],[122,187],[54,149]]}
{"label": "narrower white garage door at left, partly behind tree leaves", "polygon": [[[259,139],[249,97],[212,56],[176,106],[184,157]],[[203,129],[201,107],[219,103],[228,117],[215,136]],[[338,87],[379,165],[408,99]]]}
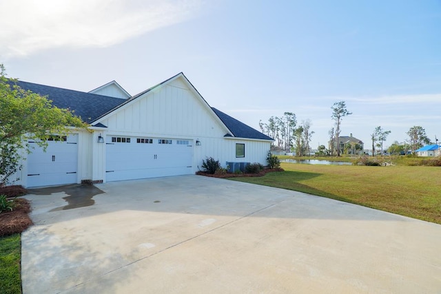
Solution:
{"label": "narrower white garage door at left, partly behind tree leaves", "polygon": [[34,141],[28,142],[28,187],[64,185],[77,182],[78,135],[52,136],[43,151]]}

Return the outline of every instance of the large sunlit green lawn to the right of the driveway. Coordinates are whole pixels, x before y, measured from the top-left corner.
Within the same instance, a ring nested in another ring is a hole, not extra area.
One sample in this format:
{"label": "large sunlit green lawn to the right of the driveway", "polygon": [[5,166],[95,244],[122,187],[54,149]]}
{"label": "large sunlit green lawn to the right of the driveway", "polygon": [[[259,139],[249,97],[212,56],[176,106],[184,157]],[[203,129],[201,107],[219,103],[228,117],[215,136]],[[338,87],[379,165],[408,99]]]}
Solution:
{"label": "large sunlit green lawn to the right of the driveway", "polygon": [[282,172],[230,178],[302,191],[441,224],[441,167],[282,163]]}

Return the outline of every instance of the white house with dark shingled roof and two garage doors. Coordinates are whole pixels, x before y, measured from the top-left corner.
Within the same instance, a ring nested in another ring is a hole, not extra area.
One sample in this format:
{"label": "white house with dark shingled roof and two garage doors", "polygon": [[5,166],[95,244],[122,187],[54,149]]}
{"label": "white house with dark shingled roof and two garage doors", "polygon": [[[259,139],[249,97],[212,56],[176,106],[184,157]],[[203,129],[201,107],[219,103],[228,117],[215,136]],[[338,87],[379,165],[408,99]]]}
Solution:
{"label": "white house with dark shingled roof and two garage doors", "polygon": [[[23,161],[17,184],[39,187],[194,174],[202,160],[266,165],[271,138],[210,107],[183,73],[130,96],[112,81],[91,92],[19,81],[91,125],[54,136]],[[29,144],[32,146],[32,141]]]}

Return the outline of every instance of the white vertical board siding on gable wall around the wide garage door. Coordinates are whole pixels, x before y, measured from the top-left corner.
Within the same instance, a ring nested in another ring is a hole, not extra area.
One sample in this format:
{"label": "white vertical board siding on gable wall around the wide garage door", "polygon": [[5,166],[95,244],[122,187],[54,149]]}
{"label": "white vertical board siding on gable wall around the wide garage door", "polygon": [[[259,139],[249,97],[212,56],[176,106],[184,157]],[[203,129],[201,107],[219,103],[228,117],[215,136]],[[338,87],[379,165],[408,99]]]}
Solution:
{"label": "white vertical board siding on gable wall around the wide garage door", "polygon": [[[267,165],[270,142],[225,138],[228,132],[209,105],[180,78],[143,94],[129,105],[101,121],[103,136],[145,136],[183,138],[192,142],[193,171],[202,169],[202,160],[213,157],[223,167],[226,162],[260,162]],[[105,132],[105,134],[104,134]],[[196,139],[201,146],[196,146]],[[94,139],[96,140],[96,139]],[[236,143],[245,144],[245,158],[236,158]],[[98,146],[97,146],[98,145]],[[93,179],[105,179],[105,144],[93,143]]]}

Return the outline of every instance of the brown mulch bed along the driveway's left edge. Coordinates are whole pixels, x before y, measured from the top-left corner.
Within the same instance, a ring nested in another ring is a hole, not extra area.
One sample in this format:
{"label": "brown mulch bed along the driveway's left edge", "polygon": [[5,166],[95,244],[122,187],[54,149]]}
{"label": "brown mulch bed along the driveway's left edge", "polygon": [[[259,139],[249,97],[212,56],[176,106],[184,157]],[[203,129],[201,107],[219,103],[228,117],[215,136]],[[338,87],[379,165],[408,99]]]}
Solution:
{"label": "brown mulch bed along the driveway's left edge", "polygon": [[[0,194],[8,197],[17,197],[26,194],[26,189],[21,186],[0,187]],[[33,224],[28,216],[31,211],[30,202],[24,198],[14,199],[12,211],[0,213],[0,237],[21,233]]]}

